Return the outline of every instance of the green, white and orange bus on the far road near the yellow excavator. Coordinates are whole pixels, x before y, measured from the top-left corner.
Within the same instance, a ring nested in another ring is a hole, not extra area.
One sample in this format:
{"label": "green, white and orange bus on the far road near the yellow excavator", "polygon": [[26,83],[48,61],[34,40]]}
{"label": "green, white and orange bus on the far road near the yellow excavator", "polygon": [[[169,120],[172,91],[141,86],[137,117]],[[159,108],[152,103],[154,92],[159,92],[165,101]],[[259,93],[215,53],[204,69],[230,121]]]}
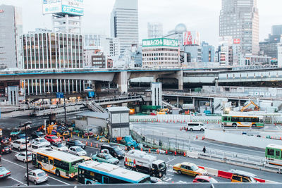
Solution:
{"label": "green, white and orange bus on the far road near the yellow excavator", "polygon": [[264,127],[260,116],[222,115],[221,122],[225,127]]}

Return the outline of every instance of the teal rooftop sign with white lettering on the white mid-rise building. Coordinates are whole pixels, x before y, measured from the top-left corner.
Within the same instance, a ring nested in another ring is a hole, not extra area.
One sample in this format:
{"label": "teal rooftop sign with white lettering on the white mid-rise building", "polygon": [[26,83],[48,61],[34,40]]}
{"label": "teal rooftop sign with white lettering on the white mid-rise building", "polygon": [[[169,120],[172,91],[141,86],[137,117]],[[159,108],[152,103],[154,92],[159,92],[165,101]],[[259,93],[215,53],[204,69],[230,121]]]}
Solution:
{"label": "teal rooftop sign with white lettering on the white mid-rise building", "polygon": [[143,47],[154,47],[154,46],[171,46],[178,47],[178,40],[176,39],[144,39],[142,42]]}

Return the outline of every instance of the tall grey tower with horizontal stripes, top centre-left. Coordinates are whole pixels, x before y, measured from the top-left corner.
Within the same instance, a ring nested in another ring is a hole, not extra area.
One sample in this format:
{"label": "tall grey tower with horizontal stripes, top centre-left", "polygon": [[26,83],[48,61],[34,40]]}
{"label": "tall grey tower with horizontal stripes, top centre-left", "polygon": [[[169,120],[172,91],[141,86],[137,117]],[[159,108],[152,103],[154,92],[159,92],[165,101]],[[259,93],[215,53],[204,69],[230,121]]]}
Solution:
{"label": "tall grey tower with horizontal stripes, top centre-left", "polygon": [[121,54],[138,44],[138,1],[116,0],[111,12],[111,37],[121,42]]}

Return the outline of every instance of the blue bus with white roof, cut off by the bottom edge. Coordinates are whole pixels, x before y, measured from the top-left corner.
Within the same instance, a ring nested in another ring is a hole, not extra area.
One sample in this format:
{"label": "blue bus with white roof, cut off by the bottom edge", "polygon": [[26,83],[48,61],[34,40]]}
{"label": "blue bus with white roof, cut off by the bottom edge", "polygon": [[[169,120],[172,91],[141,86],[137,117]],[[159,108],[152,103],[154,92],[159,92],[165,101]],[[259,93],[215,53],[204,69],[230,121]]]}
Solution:
{"label": "blue bus with white roof, cut off by the bottom edge", "polygon": [[85,161],[78,165],[80,184],[140,184],[151,183],[150,176],[121,168],[118,165]]}

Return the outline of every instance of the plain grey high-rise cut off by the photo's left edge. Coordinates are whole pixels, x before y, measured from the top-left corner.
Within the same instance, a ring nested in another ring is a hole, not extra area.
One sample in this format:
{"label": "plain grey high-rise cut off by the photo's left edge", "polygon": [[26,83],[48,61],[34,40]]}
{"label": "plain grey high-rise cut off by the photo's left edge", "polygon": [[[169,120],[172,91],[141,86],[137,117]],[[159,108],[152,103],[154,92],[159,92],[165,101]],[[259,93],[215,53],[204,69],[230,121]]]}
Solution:
{"label": "plain grey high-rise cut off by the photo's left edge", "polygon": [[0,6],[0,67],[22,68],[20,35],[23,32],[21,8]]}

